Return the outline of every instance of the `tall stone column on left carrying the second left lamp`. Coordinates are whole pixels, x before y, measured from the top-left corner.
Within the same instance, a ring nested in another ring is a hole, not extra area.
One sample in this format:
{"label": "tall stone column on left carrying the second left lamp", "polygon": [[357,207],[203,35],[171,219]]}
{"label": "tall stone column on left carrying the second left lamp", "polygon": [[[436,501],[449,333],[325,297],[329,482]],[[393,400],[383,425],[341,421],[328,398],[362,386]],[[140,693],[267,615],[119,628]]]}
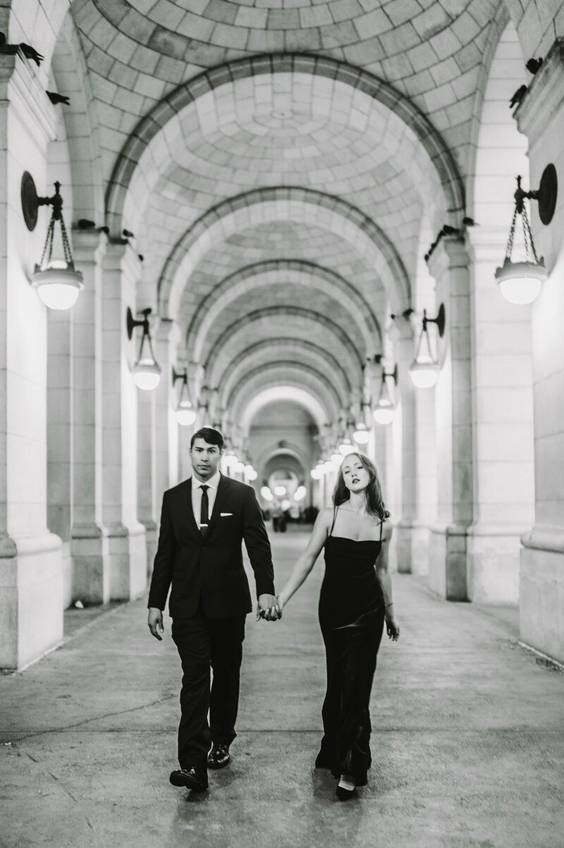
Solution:
{"label": "tall stone column on left carrying the second left lamp", "polygon": [[104,257],[102,300],[102,522],[108,528],[110,597],[130,600],[147,585],[145,527],[137,519],[137,393],[130,372],[141,330],[127,338],[127,307],[135,315],[139,259],[111,243]]}

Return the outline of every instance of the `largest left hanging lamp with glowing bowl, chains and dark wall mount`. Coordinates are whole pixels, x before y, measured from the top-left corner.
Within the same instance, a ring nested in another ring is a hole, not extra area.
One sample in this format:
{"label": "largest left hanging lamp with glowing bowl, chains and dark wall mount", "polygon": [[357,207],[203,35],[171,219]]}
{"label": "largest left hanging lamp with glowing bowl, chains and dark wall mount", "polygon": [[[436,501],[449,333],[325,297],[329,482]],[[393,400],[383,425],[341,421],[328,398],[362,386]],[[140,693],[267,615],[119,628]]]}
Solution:
{"label": "largest left hanging lamp with glowing bowl, chains and dark wall mount", "polygon": [[[80,289],[84,288],[82,274],[75,268],[73,254],[70,249],[67,229],[64,226],[63,198],[59,192],[60,182],[55,182],[55,193],[52,198],[39,198],[33,177],[25,171],[21,183],[21,201],[24,209],[25,223],[29,230],[35,229],[37,208],[51,206],[51,220],[47,226],[47,238],[43,246],[41,261],[35,266],[31,275],[31,285],[36,287],[41,301],[50,310],[69,310],[74,306]],[[53,240],[55,227],[60,226],[63,257],[53,259]]]}

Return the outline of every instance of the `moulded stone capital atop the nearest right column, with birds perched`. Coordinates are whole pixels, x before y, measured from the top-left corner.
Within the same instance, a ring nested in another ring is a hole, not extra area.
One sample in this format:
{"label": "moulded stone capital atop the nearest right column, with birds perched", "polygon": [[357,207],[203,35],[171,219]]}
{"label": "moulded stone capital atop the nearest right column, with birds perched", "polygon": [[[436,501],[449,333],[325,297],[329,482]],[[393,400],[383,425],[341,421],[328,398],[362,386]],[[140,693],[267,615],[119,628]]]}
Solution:
{"label": "moulded stone capital atop the nearest right column, with birds perched", "polygon": [[542,138],[561,111],[564,85],[564,38],[556,38],[545,61],[534,75],[513,117],[529,142]]}

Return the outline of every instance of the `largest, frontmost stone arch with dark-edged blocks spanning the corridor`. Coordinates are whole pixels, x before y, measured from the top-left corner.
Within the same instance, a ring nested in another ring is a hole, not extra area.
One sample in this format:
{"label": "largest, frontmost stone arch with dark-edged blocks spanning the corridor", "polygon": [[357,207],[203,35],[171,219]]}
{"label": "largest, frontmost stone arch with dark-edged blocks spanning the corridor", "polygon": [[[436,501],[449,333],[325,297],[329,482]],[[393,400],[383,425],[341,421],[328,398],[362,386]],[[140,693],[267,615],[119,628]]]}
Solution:
{"label": "largest, frontmost stone arch with dark-edged blocks spanning the corridor", "polygon": [[[197,98],[213,92],[219,86],[257,75],[279,73],[329,78],[331,81],[352,86],[357,92],[362,92],[368,98],[384,105],[390,110],[390,114],[395,115],[411,131],[414,141],[423,148],[432,163],[445,198],[445,212],[463,212],[464,188],[455,159],[440,132],[409,98],[389,82],[337,59],[302,53],[280,53],[238,59],[207,70],[176,88],[141,119],[119,153],[108,182],[107,223],[112,232],[121,232],[125,200],[137,168],[139,166],[141,171],[143,170],[141,159],[144,153],[170,120]],[[409,168],[411,164],[407,161],[406,167]],[[415,182],[417,183],[417,180]],[[151,188],[150,184],[148,187]]]}

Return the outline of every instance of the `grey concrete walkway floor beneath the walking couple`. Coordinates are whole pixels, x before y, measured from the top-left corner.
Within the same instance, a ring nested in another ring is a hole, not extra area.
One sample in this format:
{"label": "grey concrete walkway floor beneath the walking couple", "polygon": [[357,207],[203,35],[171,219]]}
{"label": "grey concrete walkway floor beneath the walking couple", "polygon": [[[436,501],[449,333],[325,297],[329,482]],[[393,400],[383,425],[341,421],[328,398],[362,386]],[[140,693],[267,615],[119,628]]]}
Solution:
{"label": "grey concrete walkway floor beneath the walking couple", "polygon": [[[274,535],[281,586],[306,535]],[[564,675],[517,645],[514,614],[394,575],[401,639],[373,689],[373,768],[354,801],[313,769],[324,692],[318,563],[276,624],[247,619],[233,763],[169,785],[180,664],[145,600],[85,620],[0,677],[0,845],[238,848],[564,846]]]}

